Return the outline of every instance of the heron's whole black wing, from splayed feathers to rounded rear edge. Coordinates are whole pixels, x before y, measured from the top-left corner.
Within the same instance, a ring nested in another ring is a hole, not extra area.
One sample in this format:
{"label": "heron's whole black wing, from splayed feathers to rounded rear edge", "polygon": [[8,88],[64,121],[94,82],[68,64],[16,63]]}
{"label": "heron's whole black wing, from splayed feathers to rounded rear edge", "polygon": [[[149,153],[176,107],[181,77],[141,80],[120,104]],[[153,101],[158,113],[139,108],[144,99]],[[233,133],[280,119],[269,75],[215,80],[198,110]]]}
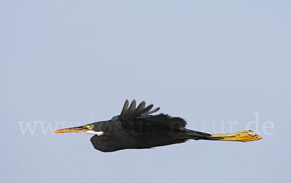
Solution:
{"label": "heron's whole black wing, from splayed feathers to rounded rear edge", "polygon": [[130,121],[130,122],[151,122],[158,125],[171,127],[174,129],[183,128],[186,126],[187,122],[179,117],[171,117],[165,114],[150,115],[157,112],[160,107],[151,110],[153,105],[146,107],[146,102],[140,103],[138,107],[136,106],[135,100],[133,100],[129,106],[129,101],[126,100],[121,114],[118,116],[116,121]]}

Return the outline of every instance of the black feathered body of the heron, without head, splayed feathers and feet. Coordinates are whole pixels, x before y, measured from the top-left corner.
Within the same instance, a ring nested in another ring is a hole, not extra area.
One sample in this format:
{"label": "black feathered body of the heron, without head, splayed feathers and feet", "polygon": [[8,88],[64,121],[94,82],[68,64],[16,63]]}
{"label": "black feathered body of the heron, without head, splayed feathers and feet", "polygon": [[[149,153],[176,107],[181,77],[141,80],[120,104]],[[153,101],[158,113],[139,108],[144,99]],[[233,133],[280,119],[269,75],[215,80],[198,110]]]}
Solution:
{"label": "black feathered body of the heron, without head, splayed feathers and feet", "polygon": [[185,121],[160,114],[130,120],[99,122],[98,130],[104,134],[91,137],[91,142],[99,151],[113,152],[122,149],[146,149],[210,136],[210,134],[187,130],[184,127],[171,127],[175,123],[183,126]]}

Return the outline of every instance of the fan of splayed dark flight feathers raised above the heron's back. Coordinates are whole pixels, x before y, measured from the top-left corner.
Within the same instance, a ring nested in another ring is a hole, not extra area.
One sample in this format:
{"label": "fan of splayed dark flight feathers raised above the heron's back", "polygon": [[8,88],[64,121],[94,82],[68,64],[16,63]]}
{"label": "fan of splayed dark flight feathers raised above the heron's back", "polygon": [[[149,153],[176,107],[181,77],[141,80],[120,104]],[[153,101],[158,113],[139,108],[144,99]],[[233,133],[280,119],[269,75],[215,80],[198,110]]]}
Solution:
{"label": "fan of splayed dark flight feathers raised above the heron's back", "polygon": [[128,119],[134,119],[141,116],[148,116],[149,114],[152,114],[160,110],[160,107],[150,110],[153,106],[154,105],[151,104],[146,107],[146,102],[143,101],[142,103],[140,103],[140,105],[138,105],[138,107],[136,107],[135,100],[133,100],[129,106],[129,101],[126,100],[123,106],[123,109],[121,111],[121,114],[118,116],[117,120],[128,120]]}

